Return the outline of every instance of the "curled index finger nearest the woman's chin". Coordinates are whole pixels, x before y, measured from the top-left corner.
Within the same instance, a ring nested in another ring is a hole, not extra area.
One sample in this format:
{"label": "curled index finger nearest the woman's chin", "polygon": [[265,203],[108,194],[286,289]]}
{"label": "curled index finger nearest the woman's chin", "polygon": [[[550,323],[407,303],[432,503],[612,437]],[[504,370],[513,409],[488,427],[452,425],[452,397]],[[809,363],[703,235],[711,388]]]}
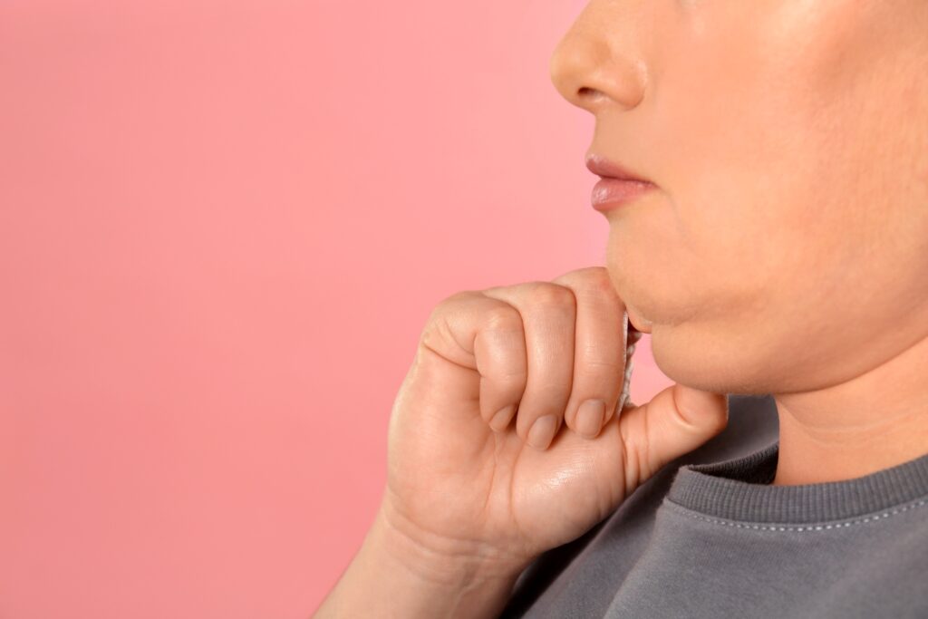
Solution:
{"label": "curled index finger nearest the woman's chin", "polygon": [[553,281],[573,290],[577,300],[574,380],[564,422],[581,436],[594,438],[624,386],[625,303],[604,267],[579,269]]}

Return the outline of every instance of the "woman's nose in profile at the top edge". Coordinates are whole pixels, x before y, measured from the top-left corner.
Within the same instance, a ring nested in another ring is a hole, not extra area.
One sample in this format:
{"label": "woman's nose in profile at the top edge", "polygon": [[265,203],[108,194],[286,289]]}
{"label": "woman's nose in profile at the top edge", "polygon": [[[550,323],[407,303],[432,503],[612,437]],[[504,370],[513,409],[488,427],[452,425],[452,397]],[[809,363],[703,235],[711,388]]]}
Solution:
{"label": "woman's nose in profile at the top edge", "polygon": [[[650,2],[651,0],[645,0]],[[636,3],[593,0],[554,48],[551,82],[561,97],[593,114],[631,109],[644,97],[647,65],[638,53]]]}

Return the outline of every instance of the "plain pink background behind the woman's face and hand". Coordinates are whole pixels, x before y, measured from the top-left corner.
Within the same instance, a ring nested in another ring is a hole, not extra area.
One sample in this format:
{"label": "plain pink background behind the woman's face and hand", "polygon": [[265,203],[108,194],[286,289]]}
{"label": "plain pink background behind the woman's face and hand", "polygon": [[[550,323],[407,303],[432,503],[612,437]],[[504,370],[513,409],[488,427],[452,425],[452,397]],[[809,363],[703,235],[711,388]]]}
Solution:
{"label": "plain pink background behind the woman's face and hand", "polygon": [[582,6],[0,4],[0,617],[316,609],[433,305],[603,264]]}

